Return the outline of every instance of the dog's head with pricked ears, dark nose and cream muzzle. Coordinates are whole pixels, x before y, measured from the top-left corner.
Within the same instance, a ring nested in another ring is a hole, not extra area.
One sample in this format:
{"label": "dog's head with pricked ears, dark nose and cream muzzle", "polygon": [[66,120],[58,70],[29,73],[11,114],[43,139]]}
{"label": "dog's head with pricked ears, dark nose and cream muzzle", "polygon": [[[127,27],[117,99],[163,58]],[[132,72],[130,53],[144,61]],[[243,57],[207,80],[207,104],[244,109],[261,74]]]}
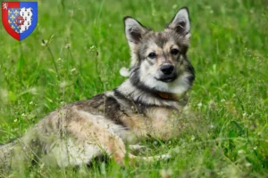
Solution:
{"label": "dog's head with pricked ears, dark nose and cream muzzle", "polygon": [[131,17],[125,17],[124,24],[131,50],[131,83],[155,92],[187,92],[195,79],[187,58],[188,8],[181,8],[162,32],[154,32]]}

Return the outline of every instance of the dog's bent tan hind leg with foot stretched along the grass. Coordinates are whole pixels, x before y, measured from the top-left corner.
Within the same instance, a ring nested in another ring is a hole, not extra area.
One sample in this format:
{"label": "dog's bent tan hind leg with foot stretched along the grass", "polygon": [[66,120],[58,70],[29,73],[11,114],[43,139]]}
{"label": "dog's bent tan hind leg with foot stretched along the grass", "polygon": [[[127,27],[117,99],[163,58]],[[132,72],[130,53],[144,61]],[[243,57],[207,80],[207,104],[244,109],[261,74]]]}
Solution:
{"label": "dog's bent tan hind leg with foot stretched along the grass", "polygon": [[[153,161],[155,159],[170,158],[168,155],[154,157],[138,157],[128,153],[121,138],[114,133],[115,127],[103,116],[95,116],[85,111],[77,111],[76,119],[72,120],[66,127],[69,134],[79,142],[87,142],[96,145],[104,150],[111,158],[120,164],[125,165],[124,158]],[[80,120],[79,122],[77,120]],[[137,148],[137,146],[136,146]]]}

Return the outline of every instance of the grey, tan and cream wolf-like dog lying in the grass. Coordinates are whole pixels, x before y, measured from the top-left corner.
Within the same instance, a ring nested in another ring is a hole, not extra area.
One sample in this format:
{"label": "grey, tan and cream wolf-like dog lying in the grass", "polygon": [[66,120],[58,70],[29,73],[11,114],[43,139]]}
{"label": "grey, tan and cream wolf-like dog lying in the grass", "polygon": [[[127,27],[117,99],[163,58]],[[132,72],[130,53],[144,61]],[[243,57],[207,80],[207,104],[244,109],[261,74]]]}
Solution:
{"label": "grey, tan and cream wolf-like dog lying in the grass", "polygon": [[142,148],[142,139],[167,141],[180,134],[178,113],[195,79],[187,57],[188,8],[181,8],[161,32],[131,17],[124,18],[124,27],[131,54],[129,77],[112,91],[51,112],[20,139],[2,145],[2,168],[33,161],[81,166],[104,154],[121,166],[126,157],[130,162],[169,157],[135,156],[128,148]]}

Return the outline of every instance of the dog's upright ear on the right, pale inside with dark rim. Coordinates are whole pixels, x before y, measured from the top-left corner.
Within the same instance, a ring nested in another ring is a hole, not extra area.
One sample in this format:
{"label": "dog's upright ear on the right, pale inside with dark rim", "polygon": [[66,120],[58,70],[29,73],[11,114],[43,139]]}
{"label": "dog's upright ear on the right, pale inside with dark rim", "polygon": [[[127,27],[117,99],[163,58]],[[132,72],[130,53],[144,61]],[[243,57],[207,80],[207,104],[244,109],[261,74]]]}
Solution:
{"label": "dog's upright ear on the right, pale inside with dark rim", "polygon": [[182,7],[176,15],[173,17],[172,21],[169,23],[167,28],[175,30],[180,36],[190,36],[190,20],[188,14],[188,8]]}

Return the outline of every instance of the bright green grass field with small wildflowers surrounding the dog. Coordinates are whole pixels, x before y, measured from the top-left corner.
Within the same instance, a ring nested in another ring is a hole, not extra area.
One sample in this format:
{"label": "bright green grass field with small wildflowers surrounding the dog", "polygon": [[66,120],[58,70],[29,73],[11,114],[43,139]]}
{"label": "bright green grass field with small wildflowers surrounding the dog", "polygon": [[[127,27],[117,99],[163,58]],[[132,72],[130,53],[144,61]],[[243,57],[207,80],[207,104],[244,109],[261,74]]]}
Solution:
{"label": "bright green grass field with small wildflowers surrounding the dog", "polygon": [[180,137],[144,142],[151,148],[145,155],[173,150],[171,160],[124,168],[96,161],[80,171],[39,164],[10,176],[268,177],[265,0],[38,1],[38,26],[25,40],[14,40],[0,25],[0,142],[66,103],[120,85],[119,70],[130,65],[122,18],[162,30],[181,6],[188,6],[192,25],[194,116],[178,118],[185,127]]}

